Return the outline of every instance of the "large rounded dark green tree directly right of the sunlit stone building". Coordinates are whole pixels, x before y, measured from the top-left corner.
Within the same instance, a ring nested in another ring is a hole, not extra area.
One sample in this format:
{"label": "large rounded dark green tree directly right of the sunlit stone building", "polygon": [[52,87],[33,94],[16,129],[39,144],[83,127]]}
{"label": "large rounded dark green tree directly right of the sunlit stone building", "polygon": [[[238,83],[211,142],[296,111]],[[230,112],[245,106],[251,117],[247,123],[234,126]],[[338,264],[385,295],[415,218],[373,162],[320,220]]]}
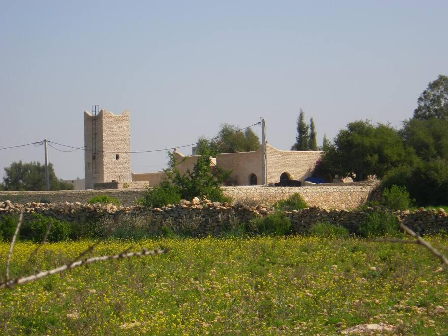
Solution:
{"label": "large rounded dark green tree directly right of the sunlit stone building", "polygon": [[358,120],[339,131],[321,158],[320,169],[362,181],[368,175],[382,178],[408,158],[401,138],[393,127]]}

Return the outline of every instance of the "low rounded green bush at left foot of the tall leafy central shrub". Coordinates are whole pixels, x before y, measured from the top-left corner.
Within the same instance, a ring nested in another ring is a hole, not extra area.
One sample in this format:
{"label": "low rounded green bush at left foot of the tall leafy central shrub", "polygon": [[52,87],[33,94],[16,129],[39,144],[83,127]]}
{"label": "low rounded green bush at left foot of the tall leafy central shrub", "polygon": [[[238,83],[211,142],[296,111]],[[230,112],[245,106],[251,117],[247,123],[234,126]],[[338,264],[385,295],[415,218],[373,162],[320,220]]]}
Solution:
{"label": "low rounded green bush at left foot of the tall leafy central shrub", "polygon": [[160,185],[148,188],[138,203],[148,208],[160,208],[167,204],[177,204],[180,200],[179,188],[168,181],[163,181]]}

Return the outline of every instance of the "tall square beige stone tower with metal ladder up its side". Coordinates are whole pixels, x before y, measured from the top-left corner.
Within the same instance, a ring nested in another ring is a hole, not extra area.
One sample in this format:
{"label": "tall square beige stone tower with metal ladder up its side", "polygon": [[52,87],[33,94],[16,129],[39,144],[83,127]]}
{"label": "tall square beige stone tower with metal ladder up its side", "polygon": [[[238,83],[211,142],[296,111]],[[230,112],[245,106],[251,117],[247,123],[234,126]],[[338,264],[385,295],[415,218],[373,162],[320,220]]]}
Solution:
{"label": "tall square beige stone tower with metal ladder up its side", "polygon": [[120,115],[84,111],[84,173],[86,189],[95,183],[131,181],[129,111]]}

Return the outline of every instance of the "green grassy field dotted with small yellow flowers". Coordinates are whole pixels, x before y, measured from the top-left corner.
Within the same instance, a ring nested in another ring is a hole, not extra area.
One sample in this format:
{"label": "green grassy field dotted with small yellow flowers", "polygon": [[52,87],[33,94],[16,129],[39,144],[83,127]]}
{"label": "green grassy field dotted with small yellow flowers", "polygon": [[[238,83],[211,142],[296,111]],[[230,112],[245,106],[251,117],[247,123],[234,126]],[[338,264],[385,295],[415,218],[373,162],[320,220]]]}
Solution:
{"label": "green grassy field dotted with small yellow flowers", "polygon": [[[448,238],[429,240],[447,254]],[[88,244],[46,244],[34,266],[60,265]],[[130,244],[171,251],[1,290],[1,334],[331,335],[382,322],[394,326],[390,334],[447,335],[448,271],[420,246],[316,237],[148,239],[109,240],[93,254]],[[35,246],[16,244],[13,275]],[[1,274],[8,248],[0,244]]]}

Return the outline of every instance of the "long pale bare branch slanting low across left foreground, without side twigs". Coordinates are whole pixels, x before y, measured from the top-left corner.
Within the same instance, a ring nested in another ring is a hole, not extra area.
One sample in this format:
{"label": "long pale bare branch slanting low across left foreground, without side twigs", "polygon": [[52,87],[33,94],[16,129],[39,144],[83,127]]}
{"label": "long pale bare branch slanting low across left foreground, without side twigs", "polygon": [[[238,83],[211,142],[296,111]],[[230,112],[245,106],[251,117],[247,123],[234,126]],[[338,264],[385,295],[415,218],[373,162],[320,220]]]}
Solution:
{"label": "long pale bare branch slanting low across left foreground, without side twigs", "polygon": [[92,258],[88,258],[88,259],[73,261],[72,263],[62,265],[62,266],[54,268],[52,270],[41,271],[41,272],[37,273],[36,275],[30,275],[30,276],[26,276],[26,277],[18,277],[14,280],[5,281],[4,283],[0,284],[0,289],[4,288],[4,287],[12,287],[15,285],[22,285],[22,284],[25,284],[25,283],[28,283],[31,281],[41,279],[47,275],[61,273],[66,270],[71,270],[75,267],[91,264],[91,263],[98,262],[98,261],[105,261],[105,260],[112,260],[112,259],[126,259],[126,258],[142,257],[142,256],[148,256],[148,255],[159,255],[159,254],[165,253],[165,250],[162,250],[162,249],[160,249],[160,250],[155,249],[152,251],[142,249],[140,252],[126,252],[127,250],[128,249],[126,249],[125,251],[123,251],[119,254],[104,255],[104,256],[100,256],[100,257],[92,257]]}

